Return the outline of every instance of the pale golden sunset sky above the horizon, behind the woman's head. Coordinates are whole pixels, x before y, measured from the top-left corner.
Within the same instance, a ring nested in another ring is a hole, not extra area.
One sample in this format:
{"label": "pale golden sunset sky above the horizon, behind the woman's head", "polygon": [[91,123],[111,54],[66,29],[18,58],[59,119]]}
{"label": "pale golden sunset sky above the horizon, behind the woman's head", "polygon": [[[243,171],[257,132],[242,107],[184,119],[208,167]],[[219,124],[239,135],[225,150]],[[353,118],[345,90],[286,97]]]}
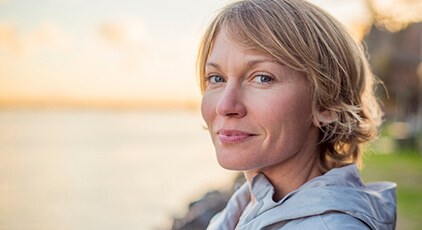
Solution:
{"label": "pale golden sunset sky above the horizon, behind the woman's head", "polygon": [[[0,102],[198,101],[201,31],[225,0],[0,0]],[[316,4],[346,24],[363,1]]]}

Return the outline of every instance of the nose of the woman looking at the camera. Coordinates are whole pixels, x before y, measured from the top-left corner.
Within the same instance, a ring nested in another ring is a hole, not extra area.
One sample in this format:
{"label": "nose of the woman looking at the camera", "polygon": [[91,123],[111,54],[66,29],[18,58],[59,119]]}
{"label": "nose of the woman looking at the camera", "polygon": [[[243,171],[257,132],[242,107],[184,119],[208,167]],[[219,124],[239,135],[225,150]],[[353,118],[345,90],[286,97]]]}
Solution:
{"label": "nose of the woman looking at the camera", "polygon": [[244,117],[247,113],[240,86],[227,84],[218,101],[217,114],[224,117]]}

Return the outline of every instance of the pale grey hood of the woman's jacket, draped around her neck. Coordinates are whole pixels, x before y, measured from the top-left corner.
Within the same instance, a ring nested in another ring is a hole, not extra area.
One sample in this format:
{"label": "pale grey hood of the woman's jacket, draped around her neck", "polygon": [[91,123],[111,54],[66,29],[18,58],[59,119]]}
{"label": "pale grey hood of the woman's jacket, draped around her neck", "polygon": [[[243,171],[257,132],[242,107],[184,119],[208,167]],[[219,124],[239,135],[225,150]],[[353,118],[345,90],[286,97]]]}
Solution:
{"label": "pale grey hood of the woman's jacket, draped around her neck", "polygon": [[[265,226],[269,226],[280,221],[340,212],[359,219],[371,229],[393,229],[396,220],[395,187],[396,184],[391,182],[363,184],[353,164],[332,169],[282,200],[274,201],[273,186],[264,175],[259,174],[252,180],[251,190],[256,205],[261,207],[246,222],[254,225],[251,223],[256,219],[253,216],[261,215],[260,218],[266,219]],[[265,226],[256,227],[261,229]]]}

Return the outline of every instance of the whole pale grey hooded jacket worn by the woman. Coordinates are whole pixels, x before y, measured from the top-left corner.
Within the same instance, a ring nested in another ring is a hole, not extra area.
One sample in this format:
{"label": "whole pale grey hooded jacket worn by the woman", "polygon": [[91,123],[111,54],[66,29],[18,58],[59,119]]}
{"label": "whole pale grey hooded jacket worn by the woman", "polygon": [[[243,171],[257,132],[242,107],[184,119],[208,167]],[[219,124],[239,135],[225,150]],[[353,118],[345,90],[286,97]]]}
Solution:
{"label": "whole pale grey hooded jacket worn by the woman", "polygon": [[259,174],[251,182],[254,204],[249,204],[245,183],[207,229],[395,229],[395,187],[390,182],[364,185],[352,164],[332,169],[274,201],[273,186]]}

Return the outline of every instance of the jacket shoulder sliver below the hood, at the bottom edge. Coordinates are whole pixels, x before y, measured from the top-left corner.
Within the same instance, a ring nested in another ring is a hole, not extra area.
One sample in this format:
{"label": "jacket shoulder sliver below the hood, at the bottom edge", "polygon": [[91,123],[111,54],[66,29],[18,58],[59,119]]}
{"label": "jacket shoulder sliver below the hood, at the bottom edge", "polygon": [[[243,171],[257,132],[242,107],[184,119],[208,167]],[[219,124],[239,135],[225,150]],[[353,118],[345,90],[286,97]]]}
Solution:
{"label": "jacket shoulder sliver below the hood, at the bottom edge", "polygon": [[370,229],[359,219],[341,212],[329,212],[274,224],[266,229],[365,230]]}

